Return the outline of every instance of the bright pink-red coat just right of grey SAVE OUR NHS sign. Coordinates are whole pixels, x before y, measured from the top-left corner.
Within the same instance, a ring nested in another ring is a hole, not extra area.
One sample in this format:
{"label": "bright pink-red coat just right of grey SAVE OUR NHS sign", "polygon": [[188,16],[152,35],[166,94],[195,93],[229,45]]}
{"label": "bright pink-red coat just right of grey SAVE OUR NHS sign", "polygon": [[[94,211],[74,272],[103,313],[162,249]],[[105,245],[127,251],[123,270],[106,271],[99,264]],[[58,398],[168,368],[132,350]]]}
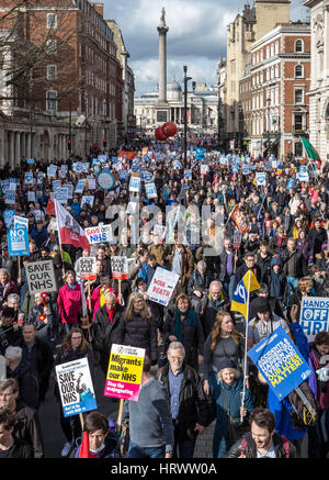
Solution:
{"label": "bright pink-red coat just right of grey SAVE OUR NHS sign", "polygon": [[67,283],[58,292],[58,316],[61,323],[75,325],[78,323],[78,313],[82,306],[81,289],[79,283],[70,289]]}

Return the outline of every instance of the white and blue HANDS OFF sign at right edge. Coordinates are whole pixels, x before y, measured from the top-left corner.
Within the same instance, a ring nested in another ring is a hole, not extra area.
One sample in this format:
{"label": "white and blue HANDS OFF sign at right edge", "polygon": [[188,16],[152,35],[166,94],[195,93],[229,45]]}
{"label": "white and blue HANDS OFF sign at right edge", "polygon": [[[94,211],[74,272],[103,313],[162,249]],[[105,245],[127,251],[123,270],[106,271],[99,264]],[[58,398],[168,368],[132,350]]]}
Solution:
{"label": "white and blue HANDS OFF sign at right edge", "polygon": [[302,297],[299,324],[308,342],[313,342],[318,332],[329,332],[329,299]]}

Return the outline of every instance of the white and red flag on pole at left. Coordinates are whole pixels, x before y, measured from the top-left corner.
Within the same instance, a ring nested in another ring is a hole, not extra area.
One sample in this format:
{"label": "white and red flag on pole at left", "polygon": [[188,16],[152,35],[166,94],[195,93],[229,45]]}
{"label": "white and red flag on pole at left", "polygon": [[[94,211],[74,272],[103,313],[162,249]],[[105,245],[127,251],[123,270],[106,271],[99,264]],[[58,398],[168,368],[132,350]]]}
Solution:
{"label": "white and red flag on pole at left", "polygon": [[58,202],[54,200],[60,244],[73,245],[77,248],[90,250],[84,230],[76,219]]}

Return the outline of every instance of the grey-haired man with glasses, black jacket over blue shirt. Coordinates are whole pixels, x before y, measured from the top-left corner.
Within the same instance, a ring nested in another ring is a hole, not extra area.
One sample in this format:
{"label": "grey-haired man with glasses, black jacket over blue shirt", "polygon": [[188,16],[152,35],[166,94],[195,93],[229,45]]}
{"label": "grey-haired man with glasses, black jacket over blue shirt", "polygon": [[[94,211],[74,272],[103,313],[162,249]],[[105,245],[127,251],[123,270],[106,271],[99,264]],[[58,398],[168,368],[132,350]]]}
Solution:
{"label": "grey-haired man with glasses, black jacket over blue shirt", "polygon": [[173,458],[193,458],[197,435],[209,424],[211,412],[198,373],[185,365],[185,350],[180,342],[169,345],[168,361],[159,376],[166,387],[174,424]]}

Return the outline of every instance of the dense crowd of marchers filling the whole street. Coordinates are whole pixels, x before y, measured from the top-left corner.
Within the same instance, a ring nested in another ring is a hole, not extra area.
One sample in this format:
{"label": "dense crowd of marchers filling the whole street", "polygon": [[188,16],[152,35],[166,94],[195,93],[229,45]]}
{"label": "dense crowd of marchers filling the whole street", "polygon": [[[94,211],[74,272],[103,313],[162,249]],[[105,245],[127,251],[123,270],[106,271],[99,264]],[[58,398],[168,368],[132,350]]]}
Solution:
{"label": "dense crowd of marchers filling the whole street", "polygon": [[[195,146],[204,147],[202,161],[208,169],[203,175],[195,148],[183,165],[179,143],[169,149],[151,139],[125,146],[135,154],[131,159],[122,154],[121,168],[151,171],[152,199],[143,182],[139,192],[129,192],[129,175],[118,176],[111,161],[120,157],[116,150],[107,153],[106,161],[114,188],[84,187],[92,204],[81,204],[75,188],[79,179],[95,178],[104,168],[92,161],[98,153],[91,153],[84,171],[75,171],[73,164],[82,159],[71,156],[53,163],[55,177],[47,175],[43,159],[33,165],[22,159],[15,170],[0,172],[2,180],[18,179],[14,204],[8,205],[0,192],[0,458],[44,457],[38,409],[52,382],[66,438],[63,457],[81,458],[88,435],[89,458],[191,459],[197,436],[214,421],[213,458],[299,457],[306,434],[307,456],[328,456],[329,377],[317,370],[328,365],[329,332],[308,342],[299,315],[303,297],[329,297],[329,169],[308,166],[308,181],[303,181],[297,161],[275,159],[273,167],[271,159],[235,155],[220,161],[223,154],[202,138]],[[238,168],[232,175],[236,160],[256,169],[246,175]],[[113,242],[90,248],[60,242],[52,193],[61,165],[68,167],[65,183],[73,186],[66,210],[82,228],[111,223]],[[24,182],[25,171],[33,172],[33,185]],[[258,185],[257,171],[265,172],[265,185]],[[27,199],[31,191],[35,201]],[[139,205],[135,214],[126,213],[132,201]],[[111,215],[117,208],[118,214]],[[139,215],[144,208],[152,222]],[[231,217],[235,208],[247,223],[243,233]],[[8,209],[29,220],[27,256],[9,255]],[[89,284],[75,267],[83,256],[97,258],[97,278]],[[113,256],[129,260],[128,279],[120,283],[112,278]],[[58,291],[31,295],[26,265],[49,259]],[[158,267],[179,276],[166,306],[147,293]],[[246,343],[246,319],[231,302],[249,270],[260,288],[250,293]],[[279,326],[311,369],[305,383],[317,417],[308,425],[296,425],[291,398],[280,402],[247,356],[246,348]],[[54,373],[56,366],[87,357],[92,377],[100,368],[105,379],[113,344],[146,351],[138,401],[124,404],[126,437],[100,411],[86,413],[83,427],[79,415],[65,417]]]}

